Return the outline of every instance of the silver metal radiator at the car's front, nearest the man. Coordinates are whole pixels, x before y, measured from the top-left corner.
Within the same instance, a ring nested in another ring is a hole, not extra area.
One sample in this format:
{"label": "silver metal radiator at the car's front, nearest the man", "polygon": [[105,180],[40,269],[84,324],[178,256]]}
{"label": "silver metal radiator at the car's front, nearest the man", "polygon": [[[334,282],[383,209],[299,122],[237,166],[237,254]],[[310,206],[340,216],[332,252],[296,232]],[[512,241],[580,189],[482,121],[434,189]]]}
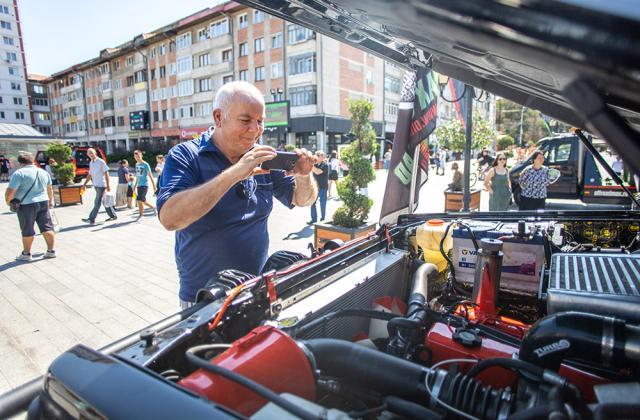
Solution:
{"label": "silver metal radiator at the car's front, nearest the man", "polygon": [[[373,300],[383,296],[405,298],[409,283],[408,254],[391,250],[369,255],[357,264],[334,274],[327,285],[298,300],[278,314],[279,325],[296,327],[330,312],[354,308],[371,309]],[[358,333],[368,333],[369,319],[335,318],[308,330],[298,338],[329,337],[352,340]]]}

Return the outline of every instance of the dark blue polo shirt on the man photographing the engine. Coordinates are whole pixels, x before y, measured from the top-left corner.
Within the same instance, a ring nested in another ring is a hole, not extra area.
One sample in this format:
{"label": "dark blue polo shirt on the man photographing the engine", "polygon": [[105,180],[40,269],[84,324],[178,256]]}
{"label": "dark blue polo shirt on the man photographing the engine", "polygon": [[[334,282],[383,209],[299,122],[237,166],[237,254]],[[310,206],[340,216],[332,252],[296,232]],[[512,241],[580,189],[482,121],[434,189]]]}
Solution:
{"label": "dark blue polo shirt on the man photographing the engine", "polygon": [[[211,141],[212,133],[210,129],[169,151],[157,198],[158,212],[172,195],[203,184],[231,166]],[[195,301],[197,291],[218,271],[235,268],[259,274],[267,261],[267,219],[273,197],[292,208],[294,178],[271,171],[241,184],[231,187],[201,219],[176,231],[180,299]]]}

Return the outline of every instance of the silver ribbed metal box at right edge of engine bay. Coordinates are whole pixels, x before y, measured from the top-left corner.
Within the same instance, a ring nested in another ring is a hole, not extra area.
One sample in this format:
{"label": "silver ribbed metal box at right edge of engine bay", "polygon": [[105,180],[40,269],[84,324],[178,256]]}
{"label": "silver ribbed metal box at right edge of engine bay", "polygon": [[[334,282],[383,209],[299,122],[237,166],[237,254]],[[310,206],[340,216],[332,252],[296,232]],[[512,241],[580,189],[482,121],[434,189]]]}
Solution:
{"label": "silver ribbed metal box at right edge of engine bay", "polygon": [[547,312],[590,312],[640,322],[640,255],[554,254]]}

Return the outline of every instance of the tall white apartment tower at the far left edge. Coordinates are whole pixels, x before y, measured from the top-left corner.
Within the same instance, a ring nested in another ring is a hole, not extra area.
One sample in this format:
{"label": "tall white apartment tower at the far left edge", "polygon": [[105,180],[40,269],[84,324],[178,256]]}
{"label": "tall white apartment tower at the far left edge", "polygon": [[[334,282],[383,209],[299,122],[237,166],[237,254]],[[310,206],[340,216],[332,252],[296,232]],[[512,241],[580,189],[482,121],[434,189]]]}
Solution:
{"label": "tall white apartment tower at the far left edge", "polygon": [[16,0],[0,0],[0,123],[31,125],[27,64]]}

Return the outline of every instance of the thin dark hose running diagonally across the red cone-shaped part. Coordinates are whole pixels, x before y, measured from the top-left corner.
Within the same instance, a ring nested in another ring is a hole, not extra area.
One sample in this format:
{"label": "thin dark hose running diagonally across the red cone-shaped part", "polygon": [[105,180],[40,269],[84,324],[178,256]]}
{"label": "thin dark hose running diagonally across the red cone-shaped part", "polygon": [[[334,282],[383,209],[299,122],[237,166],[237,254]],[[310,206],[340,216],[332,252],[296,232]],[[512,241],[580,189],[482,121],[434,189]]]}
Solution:
{"label": "thin dark hose running diagonally across the red cone-shaped part", "polygon": [[[203,346],[203,347],[206,347],[206,346]],[[270,401],[276,404],[283,410],[293,414],[296,417],[299,417],[305,420],[321,419],[320,416],[317,416],[305,410],[304,408],[292,403],[291,401],[281,397],[280,395],[276,394],[275,392],[263,386],[262,384],[259,384],[258,382],[255,382],[254,380],[247,378],[246,376],[239,375],[229,369],[215,365],[209,362],[208,360],[201,358],[200,356],[195,354],[196,351],[198,351],[197,346],[190,348],[185,353],[187,357],[187,361],[189,361],[189,363],[191,363],[192,365],[197,366],[203,370],[206,370],[207,372],[220,375],[233,382],[236,382],[244,386],[245,388],[251,390],[252,392],[255,392],[257,395],[261,396],[262,398],[265,398],[267,401]]]}

